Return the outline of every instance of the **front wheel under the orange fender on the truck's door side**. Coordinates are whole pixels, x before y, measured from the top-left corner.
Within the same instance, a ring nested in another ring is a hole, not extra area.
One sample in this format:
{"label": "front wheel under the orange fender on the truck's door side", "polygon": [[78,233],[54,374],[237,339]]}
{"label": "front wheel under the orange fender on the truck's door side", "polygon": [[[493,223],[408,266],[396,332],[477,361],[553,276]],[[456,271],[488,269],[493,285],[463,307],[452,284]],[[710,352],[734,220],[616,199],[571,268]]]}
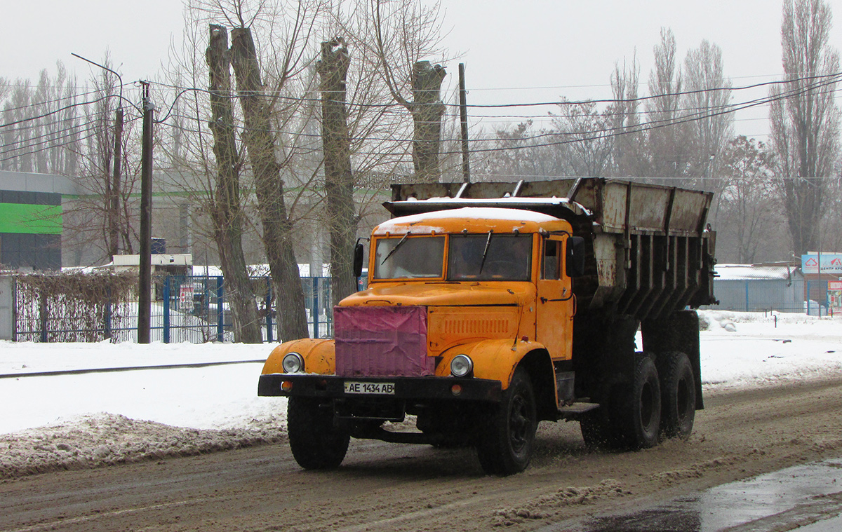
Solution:
{"label": "front wheel under the orange fender on the truck's door side", "polygon": [[514,371],[503,401],[493,407],[479,435],[477,456],[488,475],[508,476],[524,471],[535,448],[538,427],[535,392],[529,374]]}

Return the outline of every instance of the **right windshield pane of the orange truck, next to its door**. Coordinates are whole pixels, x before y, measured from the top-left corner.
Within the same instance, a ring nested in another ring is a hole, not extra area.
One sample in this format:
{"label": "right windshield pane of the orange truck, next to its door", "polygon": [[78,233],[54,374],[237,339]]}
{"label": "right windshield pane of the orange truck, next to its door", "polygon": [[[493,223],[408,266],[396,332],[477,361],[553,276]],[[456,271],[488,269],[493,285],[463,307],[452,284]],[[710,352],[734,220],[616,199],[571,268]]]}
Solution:
{"label": "right windshield pane of the orange truck, next to its door", "polygon": [[453,235],[448,280],[530,280],[532,235]]}

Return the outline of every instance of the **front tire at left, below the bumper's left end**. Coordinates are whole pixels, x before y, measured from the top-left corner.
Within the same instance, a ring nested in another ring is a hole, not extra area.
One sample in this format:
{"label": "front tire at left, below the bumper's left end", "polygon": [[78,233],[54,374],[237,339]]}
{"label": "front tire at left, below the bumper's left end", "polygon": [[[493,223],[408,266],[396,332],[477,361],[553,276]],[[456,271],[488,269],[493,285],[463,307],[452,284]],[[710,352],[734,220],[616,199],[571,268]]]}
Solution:
{"label": "front tire at left, below the bumper's left end", "polygon": [[348,452],[349,434],[333,426],[333,408],[317,400],[290,397],[286,427],[292,456],[304,469],[335,469]]}

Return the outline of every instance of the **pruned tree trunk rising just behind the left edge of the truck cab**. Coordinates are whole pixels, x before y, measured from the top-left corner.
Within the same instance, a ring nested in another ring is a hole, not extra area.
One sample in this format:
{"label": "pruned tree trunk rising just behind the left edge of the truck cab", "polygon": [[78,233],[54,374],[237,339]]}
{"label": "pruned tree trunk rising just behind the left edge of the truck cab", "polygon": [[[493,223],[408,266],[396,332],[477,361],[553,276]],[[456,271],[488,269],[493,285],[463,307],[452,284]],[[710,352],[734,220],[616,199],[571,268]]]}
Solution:
{"label": "pruned tree trunk rising just behind the left edge of the truck cab", "polygon": [[330,290],[334,306],[357,290],[354,278],[357,219],[348,111],[345,109],[345,79],[349,63],[348,46],[343,39],[322,42],[322,60],[318,61],[317,72],[321,77],[324,188],[330,232]]}

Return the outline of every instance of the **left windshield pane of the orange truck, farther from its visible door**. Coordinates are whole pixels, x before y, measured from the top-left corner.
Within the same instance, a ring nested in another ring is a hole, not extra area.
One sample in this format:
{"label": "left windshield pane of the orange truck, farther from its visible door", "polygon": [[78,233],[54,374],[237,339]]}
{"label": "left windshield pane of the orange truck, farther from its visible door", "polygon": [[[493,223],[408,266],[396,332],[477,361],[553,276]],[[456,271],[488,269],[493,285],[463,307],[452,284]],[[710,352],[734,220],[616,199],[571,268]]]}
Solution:
{"label": "left windshield pane of the orange truck, farther from its visible door", "polygon": [[440,278],[445,237],[378,238],[374,279]]}

